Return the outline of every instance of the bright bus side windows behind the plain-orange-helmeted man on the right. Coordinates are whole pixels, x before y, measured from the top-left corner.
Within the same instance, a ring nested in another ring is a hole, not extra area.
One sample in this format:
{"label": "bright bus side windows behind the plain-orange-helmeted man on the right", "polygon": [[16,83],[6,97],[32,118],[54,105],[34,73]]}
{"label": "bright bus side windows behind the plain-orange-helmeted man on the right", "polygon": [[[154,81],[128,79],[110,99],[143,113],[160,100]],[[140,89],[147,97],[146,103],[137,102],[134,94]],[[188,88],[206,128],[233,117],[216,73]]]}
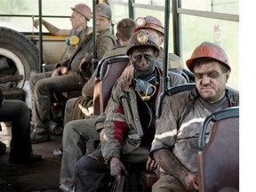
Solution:
{"label": "bright bus side windows behind the plain-orange-helmeted man on the right", "polygon": [[[164,0],[112,0],[108,2],[114,10],[113,20],[116,22],[129,14],[128,7],[130,6],[133,19],[152,15],[164,24]],[[172,9],[173,2],[178,4],[176,12],[175,9],[174,11]],[[232,65],[232,75],[228,79],[228,86],[239,90],[239,1],[172,0],[170,6],[168,51],[178,54],[185,61],[191,56],[195,47],[204,41],[220,44],[227,52],[229,62]],[[115,12],[117,9],[122,9],[124,12]],[[180,20],[178,32],[176,31],[176,34],[180,35],[178,43],[175,43],[173,40],[174,33],[172,27],[177,25],[177,23],[173,25],[173,12],[179,15]],[[180,47],[180,50],[175,48],[177,46]]]}

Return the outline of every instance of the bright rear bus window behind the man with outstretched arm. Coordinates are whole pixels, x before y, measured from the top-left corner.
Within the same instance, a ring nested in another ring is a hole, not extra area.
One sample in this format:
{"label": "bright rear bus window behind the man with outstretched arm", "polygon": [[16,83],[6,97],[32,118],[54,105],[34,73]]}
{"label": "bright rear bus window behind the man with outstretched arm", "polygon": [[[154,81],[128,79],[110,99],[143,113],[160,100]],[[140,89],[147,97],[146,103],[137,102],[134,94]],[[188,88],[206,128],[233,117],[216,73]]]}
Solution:
{"label": "bright rear bus window behind the man with outstretched arm", "polygon": [[[69,20],[75,4],[80,4],[79,0],[44,0],[42,2],[42,18],[49,21],[58,28],[72,28]],[[92,0],[84,0],[92,8]],[[20,32],[38,32],[39,29],[33,27],[34,19],[38,19],[38,1],[35,0],[2,0],[0,6],[0,26],[12,28]],[[92,20],[88,22],[92,27]],[[46,28],[42,28],[44,33],[48,33]]]}

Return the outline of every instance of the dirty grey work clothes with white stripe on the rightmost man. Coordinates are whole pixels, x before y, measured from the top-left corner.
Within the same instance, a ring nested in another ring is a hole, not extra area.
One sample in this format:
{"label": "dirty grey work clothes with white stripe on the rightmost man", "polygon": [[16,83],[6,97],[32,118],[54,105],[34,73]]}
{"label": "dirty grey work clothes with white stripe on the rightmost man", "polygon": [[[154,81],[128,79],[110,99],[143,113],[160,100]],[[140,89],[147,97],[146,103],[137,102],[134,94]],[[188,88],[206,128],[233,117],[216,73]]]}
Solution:
{"label": "dirty grey work clothes with white stripe on the rightmost man", "polygon": [[[197,172],[198,137],[206,116],[224,108],[239,105],[239,95],[228,92],[215,103],[200,97],[196,90],[180,92],[168,97],[158,121],[150,156],[157,150],[171,150],[189,172]],[[209,130],[207,131],[209,132]],[[154,192],[186,191],[172,173],[161,171],[161,177],[152,187]]]}

